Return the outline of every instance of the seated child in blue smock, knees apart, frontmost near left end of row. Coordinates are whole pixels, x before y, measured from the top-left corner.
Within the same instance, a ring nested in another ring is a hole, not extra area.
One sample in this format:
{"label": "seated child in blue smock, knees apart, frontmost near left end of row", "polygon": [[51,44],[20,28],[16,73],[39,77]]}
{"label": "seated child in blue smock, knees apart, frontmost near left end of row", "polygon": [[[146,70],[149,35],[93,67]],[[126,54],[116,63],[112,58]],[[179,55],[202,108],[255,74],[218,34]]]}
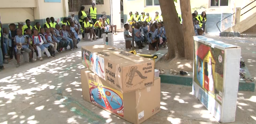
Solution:
{"label": "seated child in blue smock, knees apart, frontmost near left end of row", "polygon": [[22,29],[17,29],[17,35],[14,37],[15,51],[17,54],[17,65],[16,67],[20,67],[20,54],[21,51],[25,51],[29,54],[29,62],[34,62],[32,59],[32,51],[29,49],[29,43],[27,39],[22,35]]}

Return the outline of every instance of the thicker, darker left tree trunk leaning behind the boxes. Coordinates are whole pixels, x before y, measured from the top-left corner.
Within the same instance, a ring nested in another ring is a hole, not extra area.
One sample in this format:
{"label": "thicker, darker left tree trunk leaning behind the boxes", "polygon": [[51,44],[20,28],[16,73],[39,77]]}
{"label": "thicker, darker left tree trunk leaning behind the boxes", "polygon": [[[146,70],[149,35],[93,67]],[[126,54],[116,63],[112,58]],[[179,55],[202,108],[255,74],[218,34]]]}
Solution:
{"label": "thicker, darker left tree trunk leaning behind the boxes", "polygon": [[[180,20],[173,0],[159,0],[166,37],[168,42],[168,52],[165,59],[184,57],[184,40]],[[192,18],[192,17],[191,17]]]}

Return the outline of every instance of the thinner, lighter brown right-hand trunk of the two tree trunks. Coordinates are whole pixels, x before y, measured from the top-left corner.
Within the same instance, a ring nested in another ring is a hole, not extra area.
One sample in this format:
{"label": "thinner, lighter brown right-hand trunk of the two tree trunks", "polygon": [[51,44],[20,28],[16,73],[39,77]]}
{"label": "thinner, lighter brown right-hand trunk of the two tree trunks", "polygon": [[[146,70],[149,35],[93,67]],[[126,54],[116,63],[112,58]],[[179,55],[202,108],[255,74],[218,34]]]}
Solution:
{"label": "thinner, lighter brown right-hand trunk of the two tree trunks", "polygon": [[182,17],[182,29],[184,37],[184,50],[185,50],[185,59],[193,60],[193,49],[194,42],[193,36],[195,34],[190,0],[180,0],[180,10]]}

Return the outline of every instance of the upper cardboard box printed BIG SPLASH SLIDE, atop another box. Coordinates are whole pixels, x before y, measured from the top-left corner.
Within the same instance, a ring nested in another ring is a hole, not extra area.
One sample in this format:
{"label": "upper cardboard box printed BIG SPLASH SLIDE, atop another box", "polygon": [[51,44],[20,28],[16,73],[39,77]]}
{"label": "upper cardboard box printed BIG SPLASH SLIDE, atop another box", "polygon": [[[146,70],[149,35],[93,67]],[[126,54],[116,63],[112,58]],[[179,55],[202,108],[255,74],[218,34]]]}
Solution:
{"label": "upper cardboard box printed BIG SPLASH SLIDE, atop another box", "polygon": [[82,63],[121,93],[154,85],[154,61],[107,45],[82,47]]}

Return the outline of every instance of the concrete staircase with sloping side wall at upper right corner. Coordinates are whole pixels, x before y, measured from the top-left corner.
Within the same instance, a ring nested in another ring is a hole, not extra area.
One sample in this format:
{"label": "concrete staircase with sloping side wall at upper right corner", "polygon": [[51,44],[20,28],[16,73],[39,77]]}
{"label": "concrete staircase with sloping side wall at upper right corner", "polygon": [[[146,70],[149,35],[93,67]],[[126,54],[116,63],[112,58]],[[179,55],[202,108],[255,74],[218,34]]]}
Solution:
{"label": "concrete staircase with sloping side wall at upper right corner", "polygon": [[[242,14],[241,14],[242,13]],[[221,29],[218,23],[223,23],[228,17],[233,17],[233,25]],[[256,0],[243,8],[236,8],[236,12],[220,20],[216,25],[223,37],[256,37]]]}

